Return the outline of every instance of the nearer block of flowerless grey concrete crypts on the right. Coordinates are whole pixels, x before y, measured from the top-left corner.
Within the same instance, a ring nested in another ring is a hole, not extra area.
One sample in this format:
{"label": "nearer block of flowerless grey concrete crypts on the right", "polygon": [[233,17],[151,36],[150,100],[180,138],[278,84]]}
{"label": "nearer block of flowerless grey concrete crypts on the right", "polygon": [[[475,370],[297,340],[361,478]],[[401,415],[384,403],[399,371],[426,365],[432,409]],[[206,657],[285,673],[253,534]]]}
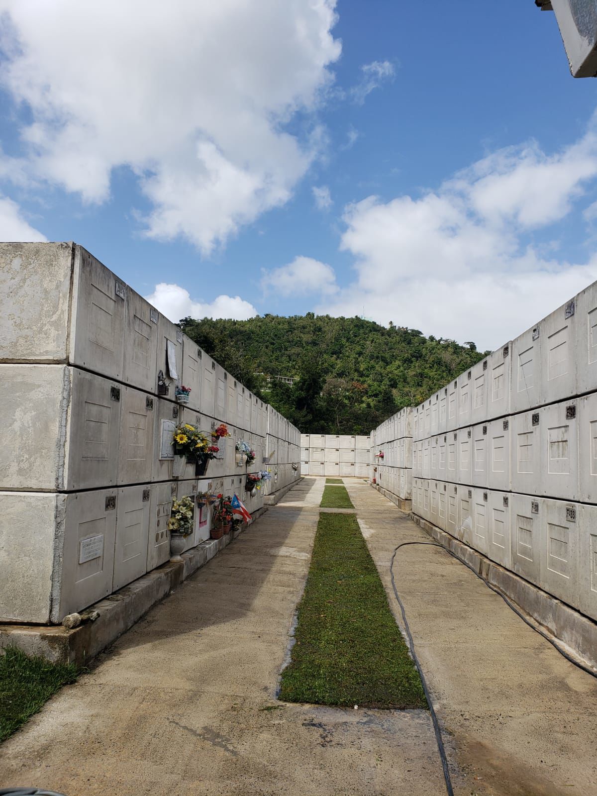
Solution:
{"label": "nearer block of flowerless grey concrete crypts on the right", "polygon": [[593,619],[596,390],[597,283],[412,410],[413,512]]}

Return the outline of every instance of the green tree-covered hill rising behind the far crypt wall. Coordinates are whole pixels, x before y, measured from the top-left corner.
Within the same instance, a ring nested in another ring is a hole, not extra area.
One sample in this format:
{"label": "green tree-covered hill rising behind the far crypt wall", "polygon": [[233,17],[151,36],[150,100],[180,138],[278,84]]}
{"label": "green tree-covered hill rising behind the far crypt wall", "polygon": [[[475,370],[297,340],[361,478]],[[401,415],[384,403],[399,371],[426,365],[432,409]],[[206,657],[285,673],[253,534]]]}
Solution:
{"label": "green tree-covered hill rising behind the far crypt wall", "polygon": [[[484,356],[472,342],[458,345],[416,329],[311,312],[249,321],[183,318],[180,325],[302,431],[328,434],[368,434]],[[298,382],[267,384],[268,375]]]}

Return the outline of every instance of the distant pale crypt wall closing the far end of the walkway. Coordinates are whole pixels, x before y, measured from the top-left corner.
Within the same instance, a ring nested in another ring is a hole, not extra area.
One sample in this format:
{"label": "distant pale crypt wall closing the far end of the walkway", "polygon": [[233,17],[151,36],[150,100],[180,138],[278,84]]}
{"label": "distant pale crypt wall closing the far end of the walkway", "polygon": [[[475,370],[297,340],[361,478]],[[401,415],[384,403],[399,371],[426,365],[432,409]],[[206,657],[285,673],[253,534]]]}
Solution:
{"label": "distant pale crypt wall closing the far end of the walkway", "polygon": [[371,439],[364,435],[301,434],[303,475],[369,478]]}

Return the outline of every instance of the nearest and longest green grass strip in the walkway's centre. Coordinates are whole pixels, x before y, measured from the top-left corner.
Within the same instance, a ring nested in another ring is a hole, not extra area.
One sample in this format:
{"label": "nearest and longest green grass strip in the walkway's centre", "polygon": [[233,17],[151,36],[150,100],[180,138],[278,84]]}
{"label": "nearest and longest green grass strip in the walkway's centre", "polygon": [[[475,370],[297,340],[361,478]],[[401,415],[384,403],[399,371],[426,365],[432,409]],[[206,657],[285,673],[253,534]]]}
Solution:
{"label": "nearest and longest green grass strip in the walkway's centre", "polygon": [[360,708],[426,708],[357,518],[322,514],[291,662],[279,699]]}

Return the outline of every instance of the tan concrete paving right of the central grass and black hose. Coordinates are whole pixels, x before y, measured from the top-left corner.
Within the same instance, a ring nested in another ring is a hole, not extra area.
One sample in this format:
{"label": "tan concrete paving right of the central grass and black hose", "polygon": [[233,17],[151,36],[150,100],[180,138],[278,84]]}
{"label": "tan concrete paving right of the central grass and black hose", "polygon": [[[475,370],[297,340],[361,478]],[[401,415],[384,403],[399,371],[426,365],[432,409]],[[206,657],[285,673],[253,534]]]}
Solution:
{"label": "tan concrete paving right of the central grass and black hose", "polygon": [[[394,548],[433,540],[377,491],[346,486],[396,610]],[[445,731],[456,793],[597,794],[595,678],[442,548],[401,548],[395,578]]]}

